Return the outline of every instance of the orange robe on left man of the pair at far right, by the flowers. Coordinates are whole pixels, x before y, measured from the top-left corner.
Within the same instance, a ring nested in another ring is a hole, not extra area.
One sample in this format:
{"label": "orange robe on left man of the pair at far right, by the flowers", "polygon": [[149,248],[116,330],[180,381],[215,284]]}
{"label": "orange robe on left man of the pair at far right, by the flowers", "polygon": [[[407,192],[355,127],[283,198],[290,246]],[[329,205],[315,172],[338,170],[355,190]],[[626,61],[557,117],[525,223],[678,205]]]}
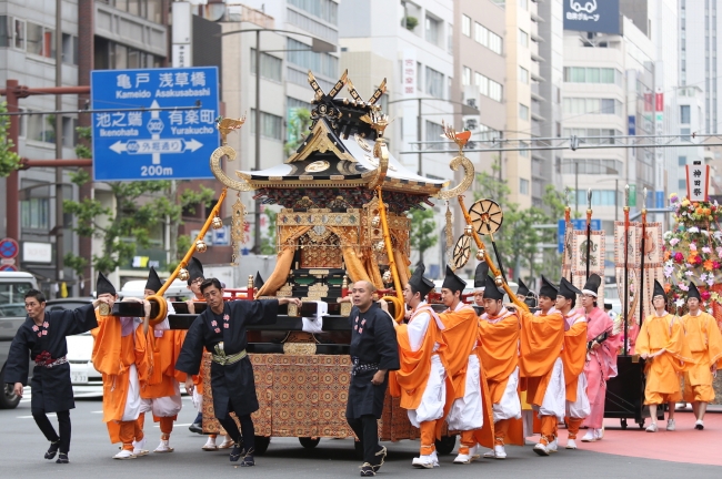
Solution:
{"label": "orange robe on left man of the pair at far right, by the flowers", "polygon": [[644,366],[646,405],[681,400],[680,375],[686,369],[686,364],[692,361],[692,354],[684,340],[682,320],[669,313],[664,316],[648,316],[636,337],[635,353],[639,355],[651,355],[662,348],[665,351],[648,358]]}

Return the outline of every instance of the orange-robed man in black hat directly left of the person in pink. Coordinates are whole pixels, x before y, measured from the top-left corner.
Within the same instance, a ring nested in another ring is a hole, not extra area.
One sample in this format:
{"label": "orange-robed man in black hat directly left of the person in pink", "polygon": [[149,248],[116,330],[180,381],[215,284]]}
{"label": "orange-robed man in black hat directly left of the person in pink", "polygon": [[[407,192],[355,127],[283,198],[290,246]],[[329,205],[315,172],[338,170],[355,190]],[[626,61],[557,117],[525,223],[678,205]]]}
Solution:
{"label": "orange-robed man in black hat directly left of the person in pink", "polygon": [[584,363],[586,359],[586,317],[583,309],[575,309],[576,295],[582,294],[566,278],[559,284],[559,295],[554,307],[564,317],[564,383],[566,391],[566,449],[576,449],[579,427],[586,416],[590,406],[586,397],[586,376]]}

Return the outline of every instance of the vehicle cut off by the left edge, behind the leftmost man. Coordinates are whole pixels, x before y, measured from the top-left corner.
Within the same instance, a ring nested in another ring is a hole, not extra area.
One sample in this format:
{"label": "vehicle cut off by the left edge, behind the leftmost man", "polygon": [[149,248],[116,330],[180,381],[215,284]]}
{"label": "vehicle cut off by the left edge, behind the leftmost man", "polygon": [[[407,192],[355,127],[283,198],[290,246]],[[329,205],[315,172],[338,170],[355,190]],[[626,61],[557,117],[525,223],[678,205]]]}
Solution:
{"label": "vehicle cut off by the left edge, behind the leftmost man", "polygon": [[4,381],[4,367],[10,343],[27,318],[24,295],[37,287],[38,283],[30,273],[0,272],[0,409],[13,409],[20,404],[12,385]]}

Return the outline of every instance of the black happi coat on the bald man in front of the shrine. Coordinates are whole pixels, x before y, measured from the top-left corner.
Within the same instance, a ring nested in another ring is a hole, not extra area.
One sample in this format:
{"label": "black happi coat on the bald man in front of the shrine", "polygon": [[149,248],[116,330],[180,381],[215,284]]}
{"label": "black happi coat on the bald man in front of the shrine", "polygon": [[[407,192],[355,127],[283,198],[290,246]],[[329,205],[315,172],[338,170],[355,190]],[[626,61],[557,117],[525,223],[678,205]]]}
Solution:
{"label": "black happi coat on the bald man in front of the shrine", "polygon": [[399,343],[392,320],[391,316],[375,303],[365,313],[361,313],[355,306],[351,309],[349,315],[351,358],[359,358],[360,364],[378,364],[379,367],[357,371],[355,376],[351,376],[349,401],[345,408],[345,416],[349,419],[358,419],[364,415],[381,418],[389,375],[379,386],[371,384],[371,379],[379,369],[400,368]]}

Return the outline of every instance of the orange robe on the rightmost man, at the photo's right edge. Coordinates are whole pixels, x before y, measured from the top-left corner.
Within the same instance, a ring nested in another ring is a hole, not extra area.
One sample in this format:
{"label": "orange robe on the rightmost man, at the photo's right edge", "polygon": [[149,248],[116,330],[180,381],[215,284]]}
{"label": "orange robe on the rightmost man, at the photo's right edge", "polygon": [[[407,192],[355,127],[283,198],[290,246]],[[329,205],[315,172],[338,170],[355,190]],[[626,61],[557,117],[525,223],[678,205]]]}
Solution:
{"label": "orange robe on the rightmost man, at the photo's right edge", "polygon": [[692,363],[684,371],[684,400],[711,402],[714,399],[711,367],[722,358],[722,334],[716,320],[708,313],[682,317],[684,337]]}

